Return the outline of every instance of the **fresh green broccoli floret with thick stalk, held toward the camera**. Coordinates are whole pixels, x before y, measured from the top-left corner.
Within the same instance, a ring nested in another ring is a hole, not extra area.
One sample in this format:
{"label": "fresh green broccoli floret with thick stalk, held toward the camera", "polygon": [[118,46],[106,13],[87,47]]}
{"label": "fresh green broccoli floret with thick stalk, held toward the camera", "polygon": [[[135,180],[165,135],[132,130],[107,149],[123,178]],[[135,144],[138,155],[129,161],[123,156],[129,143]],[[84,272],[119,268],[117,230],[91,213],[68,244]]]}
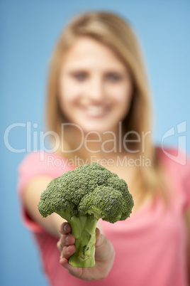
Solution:
{"label": "fresh green broccoli floret with thick stalk, held toward the camera", "polygon": [[58,213],[71,225],[76,252],[69,258],[75,267],[95,265],[96,223],[116,223],[130,216],[133,197],[118,175],[97,163],[77,167],[53,179],[43,191],[38,209],[43,217]]}

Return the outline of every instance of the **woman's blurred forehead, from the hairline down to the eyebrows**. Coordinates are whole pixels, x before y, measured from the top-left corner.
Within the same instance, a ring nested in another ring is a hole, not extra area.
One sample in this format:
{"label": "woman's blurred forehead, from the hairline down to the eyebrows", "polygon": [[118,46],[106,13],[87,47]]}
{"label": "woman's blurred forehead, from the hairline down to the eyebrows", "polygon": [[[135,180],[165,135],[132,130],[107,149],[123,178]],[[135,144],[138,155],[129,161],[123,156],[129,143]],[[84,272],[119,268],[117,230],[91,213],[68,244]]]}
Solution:
{"label": "woman's blurred forehead, from the hairline down to the eyebrows", "polygon": [[105,66],[125,68],[124,63],[111,48],[87,36],[79,37],[64,56],[65,68]]}

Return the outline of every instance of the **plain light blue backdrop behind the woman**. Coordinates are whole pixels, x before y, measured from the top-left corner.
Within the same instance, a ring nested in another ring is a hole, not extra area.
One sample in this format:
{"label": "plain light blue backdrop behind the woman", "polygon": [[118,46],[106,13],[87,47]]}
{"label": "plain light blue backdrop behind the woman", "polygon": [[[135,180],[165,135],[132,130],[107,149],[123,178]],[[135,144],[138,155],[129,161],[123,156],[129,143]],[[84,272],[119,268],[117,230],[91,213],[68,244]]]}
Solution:
{"label": "plain light blue backdrop behind the woman", "polygon": [[[186,122],[190,153],[190,1],[189,0],[1,0],[1,285],[47,285],[38,250],[23,227],[16,196],[16,169],[26,153],[13,153],[4,143],[9,125],[31,122],[32,132],[44,129],[47,68],[52,49],[71,16],[89,9],[116,11],[132,23],[147,63],[155,106],[157,144],[168,129],[166,144],[177,146],[177,125]],[[180,134],[179,134],[180,135]],[[9,143],[26,148],[26,128],[9,134]],[[38,146],[39,147],[39,146]]]}

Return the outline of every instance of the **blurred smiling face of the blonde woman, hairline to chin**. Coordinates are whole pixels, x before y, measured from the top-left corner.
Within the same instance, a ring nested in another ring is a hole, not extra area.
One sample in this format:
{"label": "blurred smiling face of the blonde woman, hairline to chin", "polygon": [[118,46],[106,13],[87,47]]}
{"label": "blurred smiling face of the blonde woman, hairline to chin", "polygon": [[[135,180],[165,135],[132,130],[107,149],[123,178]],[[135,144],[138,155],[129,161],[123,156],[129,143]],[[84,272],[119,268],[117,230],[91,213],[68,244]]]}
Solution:
{"label": "blurred smiling face of the blonde woman, hairline to chin", "polygon": [[85,133],[116,132],[130,107],[132,89],[128,69],[104,44],[80,37],[67,51],[60,72],[60,107]]}

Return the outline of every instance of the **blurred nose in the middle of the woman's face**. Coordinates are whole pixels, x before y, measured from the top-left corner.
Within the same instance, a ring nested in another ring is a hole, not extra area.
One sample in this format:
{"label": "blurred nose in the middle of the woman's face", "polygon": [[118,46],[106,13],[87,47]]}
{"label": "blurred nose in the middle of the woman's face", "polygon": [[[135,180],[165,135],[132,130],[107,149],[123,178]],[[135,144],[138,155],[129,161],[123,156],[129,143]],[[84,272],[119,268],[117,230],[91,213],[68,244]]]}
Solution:
{"label": "blurred nose in the middle of the woman's face", "polygon": [[87,94],[94,102],[101,102],[103,100],[104,81],[101,78],[101,75],[94,75],[90,78]]}

